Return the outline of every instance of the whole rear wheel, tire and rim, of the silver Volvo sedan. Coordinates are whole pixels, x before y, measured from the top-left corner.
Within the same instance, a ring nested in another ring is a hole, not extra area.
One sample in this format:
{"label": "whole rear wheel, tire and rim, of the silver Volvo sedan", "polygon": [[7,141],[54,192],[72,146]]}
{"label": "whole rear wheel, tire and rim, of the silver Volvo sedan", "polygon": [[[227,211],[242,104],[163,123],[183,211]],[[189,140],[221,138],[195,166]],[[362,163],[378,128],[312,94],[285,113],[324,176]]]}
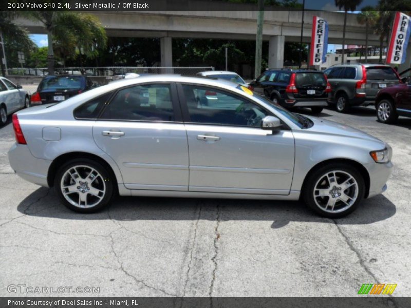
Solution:
{"label": "whole rear wheel, tire and rim, of the silver Volvo sedan", "polygon": [[69,209],[79,213],[94,213],[111,202],[114,183],[109,171],[101,164],[79,158],[60,167],[54,178],[54,189]]}

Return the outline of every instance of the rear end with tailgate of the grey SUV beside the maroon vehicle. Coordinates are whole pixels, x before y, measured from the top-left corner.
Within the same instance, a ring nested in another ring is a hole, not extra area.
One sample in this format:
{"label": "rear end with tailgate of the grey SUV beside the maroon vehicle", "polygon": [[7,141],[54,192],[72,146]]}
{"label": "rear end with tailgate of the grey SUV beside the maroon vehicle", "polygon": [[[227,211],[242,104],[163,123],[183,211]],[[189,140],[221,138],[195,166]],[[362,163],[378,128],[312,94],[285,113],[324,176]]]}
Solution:
{"label": "rear end with tailgate of the grey SUV beside the maroon vehicle", "polygon": [[369,66],[365,68],[367,84],[365,95],[367,100],[374,100],[380,89],[400,83],[394,68],[390,66]]}

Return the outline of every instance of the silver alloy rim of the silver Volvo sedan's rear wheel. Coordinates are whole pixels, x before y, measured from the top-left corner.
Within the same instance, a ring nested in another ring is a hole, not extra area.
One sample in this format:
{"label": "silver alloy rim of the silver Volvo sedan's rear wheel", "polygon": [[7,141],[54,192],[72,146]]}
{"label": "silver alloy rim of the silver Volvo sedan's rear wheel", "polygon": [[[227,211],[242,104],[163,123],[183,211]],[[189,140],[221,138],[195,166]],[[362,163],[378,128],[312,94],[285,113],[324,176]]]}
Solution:
{"label": "silver alloy rim of the silver Volvo sedan's rear wheel", "polygon": [[87,165],[70,167],[60,182],[64,198],[73,206],[90,208],[98,205],[106,193],[104,178]]}

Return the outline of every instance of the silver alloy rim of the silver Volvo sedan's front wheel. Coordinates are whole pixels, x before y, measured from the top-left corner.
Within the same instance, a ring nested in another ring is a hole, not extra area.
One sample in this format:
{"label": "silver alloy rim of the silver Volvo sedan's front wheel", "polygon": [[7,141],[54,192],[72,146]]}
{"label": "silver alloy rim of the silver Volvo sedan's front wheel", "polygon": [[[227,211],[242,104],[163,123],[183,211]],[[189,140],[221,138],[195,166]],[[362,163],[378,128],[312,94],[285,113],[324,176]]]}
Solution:
{"label": "silver alloy rim of the silver Volvo sedan's front wheel", "polygon": [[327,213],[340,213],[350,208],[358,198],[358,183],[342,170],[326,172],[316,182],[313,196],[316,206]]}

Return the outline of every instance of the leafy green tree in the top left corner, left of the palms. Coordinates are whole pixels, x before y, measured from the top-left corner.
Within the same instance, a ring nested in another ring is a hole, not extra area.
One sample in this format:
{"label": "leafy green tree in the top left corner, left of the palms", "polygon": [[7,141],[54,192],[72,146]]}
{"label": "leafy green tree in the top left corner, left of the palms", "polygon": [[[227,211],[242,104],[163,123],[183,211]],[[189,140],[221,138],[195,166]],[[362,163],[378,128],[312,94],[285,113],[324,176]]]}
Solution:
{"label": "leafy green tree in the top left corner, left of the palms", "polygon": [[[18,64],[17,51],[24,52],[34,48],[34,44],[30,40],[27,30],[15,23],[16,17],[16,12],[0,12],[0,33],[3,36],[9,67],[16,66],[16,64],[20,66]],[[0,54],[0,66],[4,76],[5,67],[3,61],[1,61],[3,58],[3,50],[0,50]]]}

